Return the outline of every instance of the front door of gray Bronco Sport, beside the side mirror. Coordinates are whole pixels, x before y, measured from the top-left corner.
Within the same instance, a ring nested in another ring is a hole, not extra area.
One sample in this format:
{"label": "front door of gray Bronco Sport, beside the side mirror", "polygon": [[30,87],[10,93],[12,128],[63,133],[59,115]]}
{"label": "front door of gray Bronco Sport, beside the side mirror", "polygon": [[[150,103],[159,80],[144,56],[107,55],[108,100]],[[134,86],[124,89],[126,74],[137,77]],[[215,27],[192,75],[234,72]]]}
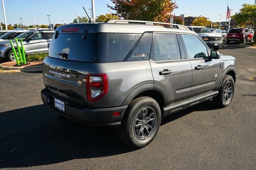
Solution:
{"label": "front door of gray Bronco Sport, beside the side mirror", "polygon": [[218,90],[220,61],[210,59],[210,50],[197,36],[180,34],[187,61],[192,66],[191,97]]}

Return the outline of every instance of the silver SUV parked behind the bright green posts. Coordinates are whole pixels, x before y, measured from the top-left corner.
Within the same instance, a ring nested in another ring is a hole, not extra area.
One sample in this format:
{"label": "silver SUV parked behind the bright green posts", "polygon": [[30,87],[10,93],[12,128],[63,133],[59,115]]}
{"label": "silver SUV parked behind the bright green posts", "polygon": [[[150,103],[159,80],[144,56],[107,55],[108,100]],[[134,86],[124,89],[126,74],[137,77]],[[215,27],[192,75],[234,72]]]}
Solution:
{"label": "silver SUV parked behind the bright green posts", "polygon": [[[52,40],[54,30],[27,31],[20,34],[18,40],[22,39],[26,54],[35,52],[47,52]],[[12,40],[16,46],[15,40]],[[18,52],[16,51],[17,55]],[[10,40],[0,42],[0,57],[6,57],[7,61],[14,61],[14,53],[10,45]],[[19,58],[19,57],[18,57]]]}

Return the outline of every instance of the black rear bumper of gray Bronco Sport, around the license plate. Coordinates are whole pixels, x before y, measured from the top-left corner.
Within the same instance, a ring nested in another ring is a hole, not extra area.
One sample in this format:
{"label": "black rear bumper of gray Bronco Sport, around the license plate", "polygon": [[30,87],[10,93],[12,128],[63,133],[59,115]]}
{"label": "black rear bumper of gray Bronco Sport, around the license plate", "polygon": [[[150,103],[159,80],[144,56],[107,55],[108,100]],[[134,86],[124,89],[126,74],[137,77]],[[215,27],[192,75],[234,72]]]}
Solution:
{"label": "black rear bumper of gray Bronco Sport, around the license plate", "polygon": [[[96,126],[113,126],[120,125],[126,106],[111,107],[111,108],[85,108],[82,105],[75,103],[65,102],[65,112],[59,111],[54,107],[54,98],[47,89],[41,91],[41,98],[45,105],[47,105],[52,111],[62,115],[72,121],[76,121],[85,125]],[[62,99],[61,99],[62,100]],[[63,101],[63,100],[62,100]],[[121,112],[120,116],[113,117],[113,112]]]}

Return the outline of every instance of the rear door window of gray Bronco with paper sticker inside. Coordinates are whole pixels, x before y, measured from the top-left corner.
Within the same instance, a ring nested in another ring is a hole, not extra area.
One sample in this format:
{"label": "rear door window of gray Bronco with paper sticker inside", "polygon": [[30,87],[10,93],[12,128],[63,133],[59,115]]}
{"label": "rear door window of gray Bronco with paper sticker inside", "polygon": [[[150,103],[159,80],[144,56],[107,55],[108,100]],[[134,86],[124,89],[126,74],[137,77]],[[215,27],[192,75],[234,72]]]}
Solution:
{"label": "rear door window of gray Bronco with paper sticker inside", "polygon": [[156,34],[154,61],[170,61],[180,59],[180,49],[176,34]]}

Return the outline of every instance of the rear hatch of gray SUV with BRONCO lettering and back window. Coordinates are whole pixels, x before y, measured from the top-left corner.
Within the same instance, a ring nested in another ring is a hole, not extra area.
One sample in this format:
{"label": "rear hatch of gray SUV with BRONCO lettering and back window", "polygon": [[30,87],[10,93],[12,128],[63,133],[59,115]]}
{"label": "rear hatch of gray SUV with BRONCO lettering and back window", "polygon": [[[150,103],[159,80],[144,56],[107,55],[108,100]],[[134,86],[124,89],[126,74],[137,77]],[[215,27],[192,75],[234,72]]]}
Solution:
{"label": "rear hatch of gray SUV with BRONCO lettering and back window", "polygon": [[44,59],[44,83],[60,100],[87,105],[86,76],[94,59],[97,24],[69,24],[54,32]]}

